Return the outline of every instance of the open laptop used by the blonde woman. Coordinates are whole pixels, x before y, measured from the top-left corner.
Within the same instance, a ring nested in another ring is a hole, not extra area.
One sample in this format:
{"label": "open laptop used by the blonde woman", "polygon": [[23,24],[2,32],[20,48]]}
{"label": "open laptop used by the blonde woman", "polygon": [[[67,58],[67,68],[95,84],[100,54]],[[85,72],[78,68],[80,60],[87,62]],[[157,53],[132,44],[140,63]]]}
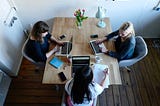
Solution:
{"label": "open laptop used by the blonde woman", "polygon": [[104,43],[97,44],[96,40],[91,40],[89,42],[89,45],[95,55],[99,55],[99,54],[102,54],[103,52],[107,51]]}

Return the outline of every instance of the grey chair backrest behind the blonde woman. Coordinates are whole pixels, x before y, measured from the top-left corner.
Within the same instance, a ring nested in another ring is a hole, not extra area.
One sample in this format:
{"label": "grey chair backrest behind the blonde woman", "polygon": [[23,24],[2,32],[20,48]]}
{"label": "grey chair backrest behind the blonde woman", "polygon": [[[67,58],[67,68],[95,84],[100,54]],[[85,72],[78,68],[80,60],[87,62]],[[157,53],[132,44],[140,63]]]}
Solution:
{"label": "grey chair backrest behind the blonde woman", "polygon": [[136,36],[136,46],[133,58],[119,61],[120,67],[131,66],[143,59],[148,54],[147,45],[141,36]]}

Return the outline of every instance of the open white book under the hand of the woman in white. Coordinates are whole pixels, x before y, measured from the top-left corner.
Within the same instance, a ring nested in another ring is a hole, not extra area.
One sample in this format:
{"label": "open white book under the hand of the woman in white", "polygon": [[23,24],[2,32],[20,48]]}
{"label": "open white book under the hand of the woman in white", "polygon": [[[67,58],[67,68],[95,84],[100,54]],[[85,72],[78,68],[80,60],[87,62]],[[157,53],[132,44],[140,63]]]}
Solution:
{"label": "open white book under the hand of the woman in white", "polygon": [[[109,67],[108,65],[104,65],[104,64],[94,64],[94,66],[92,67],[93,69],[93,77],[94,77],[94,81],[98,84],[101,83],[101,81],[104,79],[104,69],[108,68],[108,73],[109,73]],[[104,88],[108,88],[109,86],[109,74],[107,74],[106,76],[106,80],[104,82]]]}

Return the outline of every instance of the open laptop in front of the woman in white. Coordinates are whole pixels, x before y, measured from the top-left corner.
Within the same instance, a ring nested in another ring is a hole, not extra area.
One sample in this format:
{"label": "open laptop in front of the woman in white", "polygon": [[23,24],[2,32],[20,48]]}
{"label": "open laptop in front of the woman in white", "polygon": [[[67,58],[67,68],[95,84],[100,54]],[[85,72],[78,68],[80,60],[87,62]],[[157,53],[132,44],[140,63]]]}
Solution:
{"label": "open laptop in front of the woman in white", "polygon": [[90,66],[90,56],[72,56],[72,77],[78,70],[83,70],[84,67]]}

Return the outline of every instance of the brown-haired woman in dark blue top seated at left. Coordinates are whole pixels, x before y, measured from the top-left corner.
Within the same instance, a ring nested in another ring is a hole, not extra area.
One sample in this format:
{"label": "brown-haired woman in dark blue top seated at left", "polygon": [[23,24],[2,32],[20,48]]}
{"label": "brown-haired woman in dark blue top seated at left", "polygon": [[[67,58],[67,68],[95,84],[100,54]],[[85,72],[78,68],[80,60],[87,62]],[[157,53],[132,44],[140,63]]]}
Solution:
{"label": "brown-haired woman in dark blue top seated at left", "polygon": [[45,63],[47,58],[56,51],[56,48],[49,51],[49,41],[54,41],[58,45],[63,44],[51,36],[48,31],[49,26],[43,21],[38,21],[35,23],[31,31],[29,40],[26,44],[26,51],[27,55],[36,62]]}

